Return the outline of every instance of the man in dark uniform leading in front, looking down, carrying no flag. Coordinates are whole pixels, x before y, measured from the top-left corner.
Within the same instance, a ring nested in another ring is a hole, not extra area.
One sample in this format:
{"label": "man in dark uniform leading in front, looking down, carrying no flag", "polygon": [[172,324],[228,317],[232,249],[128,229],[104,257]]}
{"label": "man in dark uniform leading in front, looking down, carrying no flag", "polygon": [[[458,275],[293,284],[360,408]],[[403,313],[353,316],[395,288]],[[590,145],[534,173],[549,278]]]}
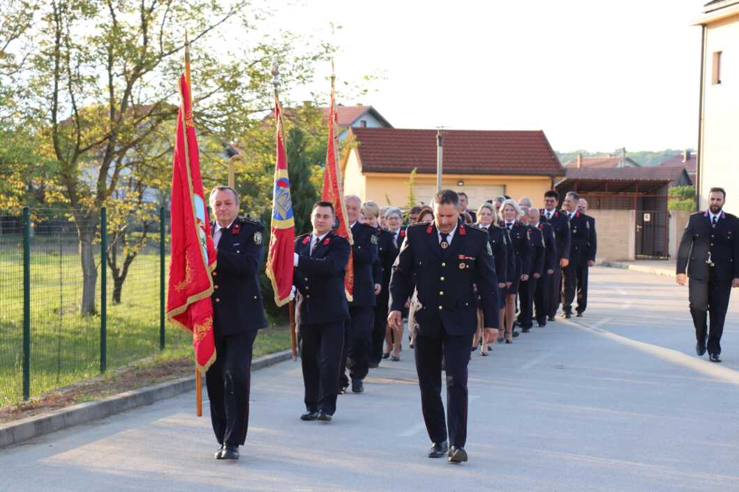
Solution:
{"label": "man in dark uniform leading in front, looking down, carrying no flag", "polygon": [[[434,202],[434,221],[406,231],[390,280],[388,322],[401,326],[403,305],[413,294],[415,364],[423,420],[433,443],[429,457],[448,454],[449,462],[459,463],[467,461],[467,365],[477,328],[477,295],[483,326],[497,328],[498,286],[488,234],[459,221],[457,193],[442,190]],[[446,421],[440,394],[442,358]]]}

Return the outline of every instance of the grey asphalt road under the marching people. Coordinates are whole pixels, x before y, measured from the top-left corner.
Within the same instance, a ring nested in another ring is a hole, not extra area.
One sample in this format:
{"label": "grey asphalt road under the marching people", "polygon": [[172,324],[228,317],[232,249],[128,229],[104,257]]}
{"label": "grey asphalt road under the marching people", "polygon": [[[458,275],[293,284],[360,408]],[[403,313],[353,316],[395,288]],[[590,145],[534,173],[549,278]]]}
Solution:
{"label": "grey asphalt road under the marching people", "polygon": [[687,288],[593,268],[585,317],[470,363],[470,461],[426,457],[405,347],[302,422],[302,375],[253,374],[242,459],[217,462],[193,395],[0,451],[1,491],[739,491],[739,291],[723,364],[695,356]]}

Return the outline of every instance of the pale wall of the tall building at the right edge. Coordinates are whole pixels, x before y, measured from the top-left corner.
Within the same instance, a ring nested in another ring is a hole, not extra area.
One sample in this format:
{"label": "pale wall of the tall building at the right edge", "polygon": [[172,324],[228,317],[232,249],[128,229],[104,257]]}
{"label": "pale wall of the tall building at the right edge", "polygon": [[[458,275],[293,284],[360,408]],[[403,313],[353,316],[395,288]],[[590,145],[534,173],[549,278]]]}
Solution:
{"label": "pale wall of the tall building at the right edge", "polygon": [[[721,83],[713,84],[713,54],[721,54]],[[709,189],[726,189],[726,211],[739,213],[739,15],[706,26],[703,127],[701,128],[701,209]]]}

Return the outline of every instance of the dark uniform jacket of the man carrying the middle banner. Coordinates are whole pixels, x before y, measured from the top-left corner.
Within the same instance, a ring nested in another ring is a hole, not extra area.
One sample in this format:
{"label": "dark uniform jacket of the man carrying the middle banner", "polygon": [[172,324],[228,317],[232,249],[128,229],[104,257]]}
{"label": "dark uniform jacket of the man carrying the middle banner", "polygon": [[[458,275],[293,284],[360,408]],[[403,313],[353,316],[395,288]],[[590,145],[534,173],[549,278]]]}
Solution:
{"label": "dark uniform jacket of the man carrying the middle banner", "polygon": [[293,273],[296,322],[299,325],[349,319],[344,273],[349,261],[349,241],[329,232],[310,254],[310,234],[295,238],[298,266]]}

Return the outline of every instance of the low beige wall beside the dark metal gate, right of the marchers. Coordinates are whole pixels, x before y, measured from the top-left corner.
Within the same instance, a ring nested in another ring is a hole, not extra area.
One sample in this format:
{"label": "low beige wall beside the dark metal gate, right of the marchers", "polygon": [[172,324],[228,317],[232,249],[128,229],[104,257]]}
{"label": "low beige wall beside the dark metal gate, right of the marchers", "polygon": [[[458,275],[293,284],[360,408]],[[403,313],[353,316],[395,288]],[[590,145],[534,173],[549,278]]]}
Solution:
{"label": "low beige wall beside the dark metal gate, right of the marchers", "polygon": [[636,210],[588,210],[596,219],[596,262],[636,260]]}

